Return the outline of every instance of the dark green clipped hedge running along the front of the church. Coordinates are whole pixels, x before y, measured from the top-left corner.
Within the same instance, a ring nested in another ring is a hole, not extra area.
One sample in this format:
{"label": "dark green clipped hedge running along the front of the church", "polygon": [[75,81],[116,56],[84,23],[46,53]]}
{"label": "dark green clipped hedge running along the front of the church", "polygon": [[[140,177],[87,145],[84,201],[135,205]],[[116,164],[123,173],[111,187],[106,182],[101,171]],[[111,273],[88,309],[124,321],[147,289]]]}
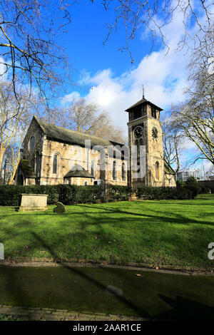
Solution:
{"label": "dark green clipped hedge running along the front of the church", "polygon": [[[199,192],[197,182],[189,180],[178,183],[177,187],[138,187],[137,197],[147,200],[193,199]],[[129,186],[101,185],[0,185],[0,205],[20,206],[21,193],[48,194],[48,205],[57,201],[64,205],[79,203],[95,203],[108,201],[122,201],[130,199],[133,191]]]}

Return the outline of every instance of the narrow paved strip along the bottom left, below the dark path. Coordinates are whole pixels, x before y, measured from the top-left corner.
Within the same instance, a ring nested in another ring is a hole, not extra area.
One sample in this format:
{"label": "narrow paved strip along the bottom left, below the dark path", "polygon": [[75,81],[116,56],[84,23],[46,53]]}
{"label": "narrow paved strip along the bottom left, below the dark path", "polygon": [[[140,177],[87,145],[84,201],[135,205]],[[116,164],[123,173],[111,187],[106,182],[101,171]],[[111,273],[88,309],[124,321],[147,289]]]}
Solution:
{"label": "narrow paved strip along the bottom left, below the dark path", "polygon": [[146,319],[107,314],[76,313],[66,309],[26,308],[0,305],[0,314],[28,319],[30,321],[145,321]]}

